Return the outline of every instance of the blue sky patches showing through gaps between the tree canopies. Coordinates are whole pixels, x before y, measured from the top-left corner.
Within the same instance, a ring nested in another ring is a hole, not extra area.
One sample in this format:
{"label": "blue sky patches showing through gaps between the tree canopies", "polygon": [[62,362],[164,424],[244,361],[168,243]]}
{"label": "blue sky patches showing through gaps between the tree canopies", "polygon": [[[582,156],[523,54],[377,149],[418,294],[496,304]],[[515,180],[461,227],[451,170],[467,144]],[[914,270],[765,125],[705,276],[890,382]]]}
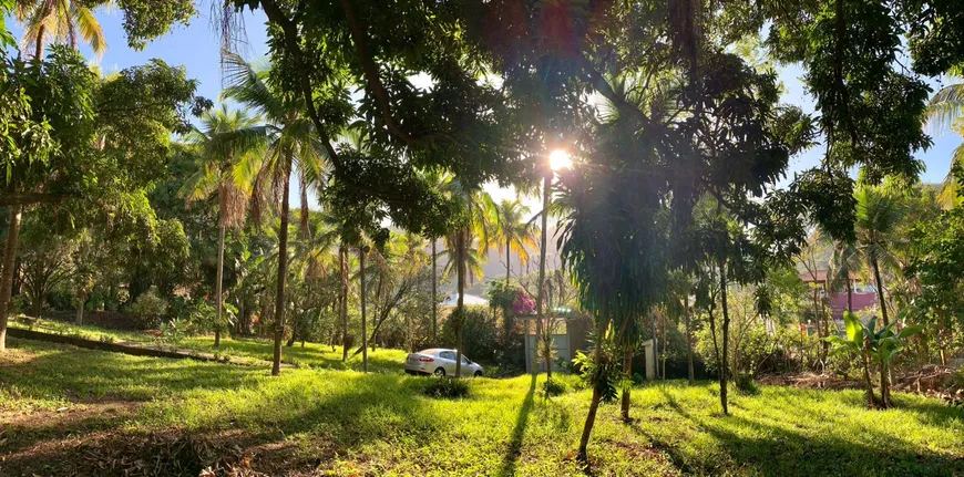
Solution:
{"label": "blue sky patches showing through gaps between the tree canopies", "polygon": [[[204,9],[204,7],[202,7]],[[176,27],[164,38],[161,38],[150,43],[143,51],[134,51],[127,48],[124,31],[122,29],[123,17],[120,12],[107,13],[99,11],[98,19],[104,31],[107,41],[107,51],[103,58],[93,60],[94,56],[89,49],[82,49],[82,52],[92,61],[100,64],[105,73],[120,71],[127,66],[145,63],[152,58],[160,58],[173,65],[184,65],[187,68],[188,76],[198,80],[198,94],[217,100],[221,91],[221,65],[218,62],[218,35],[208,23],[207,11],[202,11],[201,14],[192,19],[188,27]],[[263,56],[267,53],[265,17],[258,11],[255,13],[245,13],[245,24],[247,29],[248,46],[243,53],[248,59]],[[12,19],[8,20],[8,27],[11,27],[14,37],[19,40],[21,30]],[[790,104],[802,106],[806,111],[813,111],[813,101],[803,90],[802,83],[798,80],[801,72],[796,66],[783,68],[780,71],[780,79],[784,85],[783,101]],[[936,90],[940,83],[934,81],[932,86]],[[934,145],[926,152],[919,152],[917,157],[926,164],[926,172],[921,179],[924,182],[936,183],[944,178],[950,167],[952,152],[961,144],[962,138],[950,132],[930,131]],[[797,170],[802,170],[814,166],[819,163],[823,147],[818,146],[807,153],[791,159],[790,176]],[[490,188],[495,193],[496,199],[502,197],[511,197],[513,194],[509,190],[499,190],[494,187]],[[294,191],[293,191],[294,194]]]}

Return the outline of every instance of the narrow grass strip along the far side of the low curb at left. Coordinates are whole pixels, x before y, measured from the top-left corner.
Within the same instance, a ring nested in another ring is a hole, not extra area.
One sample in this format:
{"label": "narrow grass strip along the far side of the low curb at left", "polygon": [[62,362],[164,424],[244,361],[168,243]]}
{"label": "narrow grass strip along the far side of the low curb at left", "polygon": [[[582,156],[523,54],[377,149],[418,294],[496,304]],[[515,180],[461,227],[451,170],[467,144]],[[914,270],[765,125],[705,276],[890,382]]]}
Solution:
{"label": "narrow grass strip along the far side of the low curb at left", "polygon": [[[107,330],[94,325],[75,325],[52,320],[12,320],[11,326],[33,328],[38,331],[59,334],[74,335],[88,340],[109,340],[113,342],[129,341],[142,344],[156,344],[157,339],[144,332]],[[166,346],[173,343],[164,343]],[[222,336],[221,346],[214,348],[214,336],[188,336],[176,343],[180,349],[195,350],[204,353],[217,353],[219,355],[270,361],[274,356],[273,343],[261,338]],[[341,346],[327,346],[317,343],[295,343],[294,346],[285,346],[281,351],[281,361],[296,366],[320,367],[331,370],[357,370],[361,371],[361,354],[352,356],[355,349],[349,350],[347,362],[341,361]],[[369,351],[368,369],[375,373],[396,373],[404,366],[408,353],[399,350]]]}

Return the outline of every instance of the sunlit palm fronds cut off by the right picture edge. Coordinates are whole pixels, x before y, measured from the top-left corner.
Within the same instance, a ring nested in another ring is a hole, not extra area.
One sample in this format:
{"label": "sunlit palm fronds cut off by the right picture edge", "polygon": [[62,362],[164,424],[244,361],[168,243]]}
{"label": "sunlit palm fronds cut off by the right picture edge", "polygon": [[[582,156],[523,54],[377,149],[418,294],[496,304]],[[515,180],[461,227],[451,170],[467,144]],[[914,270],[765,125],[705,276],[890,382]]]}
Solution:
{"label": "sunlit palm fronds cut off by the right picture edge", "polygon": [[[927,116],[935,127],[941,129],[950,127],[964,136],[964,121],[960,121],[964,117],[964,83],[944,86],[934,94],[927,106]],[[951,168],[942,182],[937,201],[943,208],[950,209],[961,205],[957,180],[962,178],[962,174],[964,174],[964,144],[954,149]]]}

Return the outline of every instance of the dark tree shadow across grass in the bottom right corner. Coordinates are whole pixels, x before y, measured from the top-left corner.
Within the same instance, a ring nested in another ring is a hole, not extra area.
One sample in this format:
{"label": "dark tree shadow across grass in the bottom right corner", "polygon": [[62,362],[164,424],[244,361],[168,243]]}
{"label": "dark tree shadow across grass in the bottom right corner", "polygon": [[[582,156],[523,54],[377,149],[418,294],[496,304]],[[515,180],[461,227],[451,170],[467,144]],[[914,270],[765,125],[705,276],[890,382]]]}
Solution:
{"label": "dark tree shadow across grass in the bottom right corner", "polygon": [[[664,395],[675,413],[688,421],[696,432],[711,436],[722,450],[722,455],[710,449],[686,455],[671,443],[634,426],[666,450],[674,464],[687,473],[722,474],[736,470],[762,476],[807,477],[964,475],[964,459],[915,452],[907,448],[913,444],[900,442],[900,436],[860,429],[869,438],[855,440],[841,437],[853,431],[845,428],[845,423],[841,423],[839,432],[814,436],[767,424],[761,421],[762,416],[696,417],[683,408],[674,396],[665,392]],[[783,412],[793,411],[788,408]],[[828,417],[813,416],[814,419]]]}

